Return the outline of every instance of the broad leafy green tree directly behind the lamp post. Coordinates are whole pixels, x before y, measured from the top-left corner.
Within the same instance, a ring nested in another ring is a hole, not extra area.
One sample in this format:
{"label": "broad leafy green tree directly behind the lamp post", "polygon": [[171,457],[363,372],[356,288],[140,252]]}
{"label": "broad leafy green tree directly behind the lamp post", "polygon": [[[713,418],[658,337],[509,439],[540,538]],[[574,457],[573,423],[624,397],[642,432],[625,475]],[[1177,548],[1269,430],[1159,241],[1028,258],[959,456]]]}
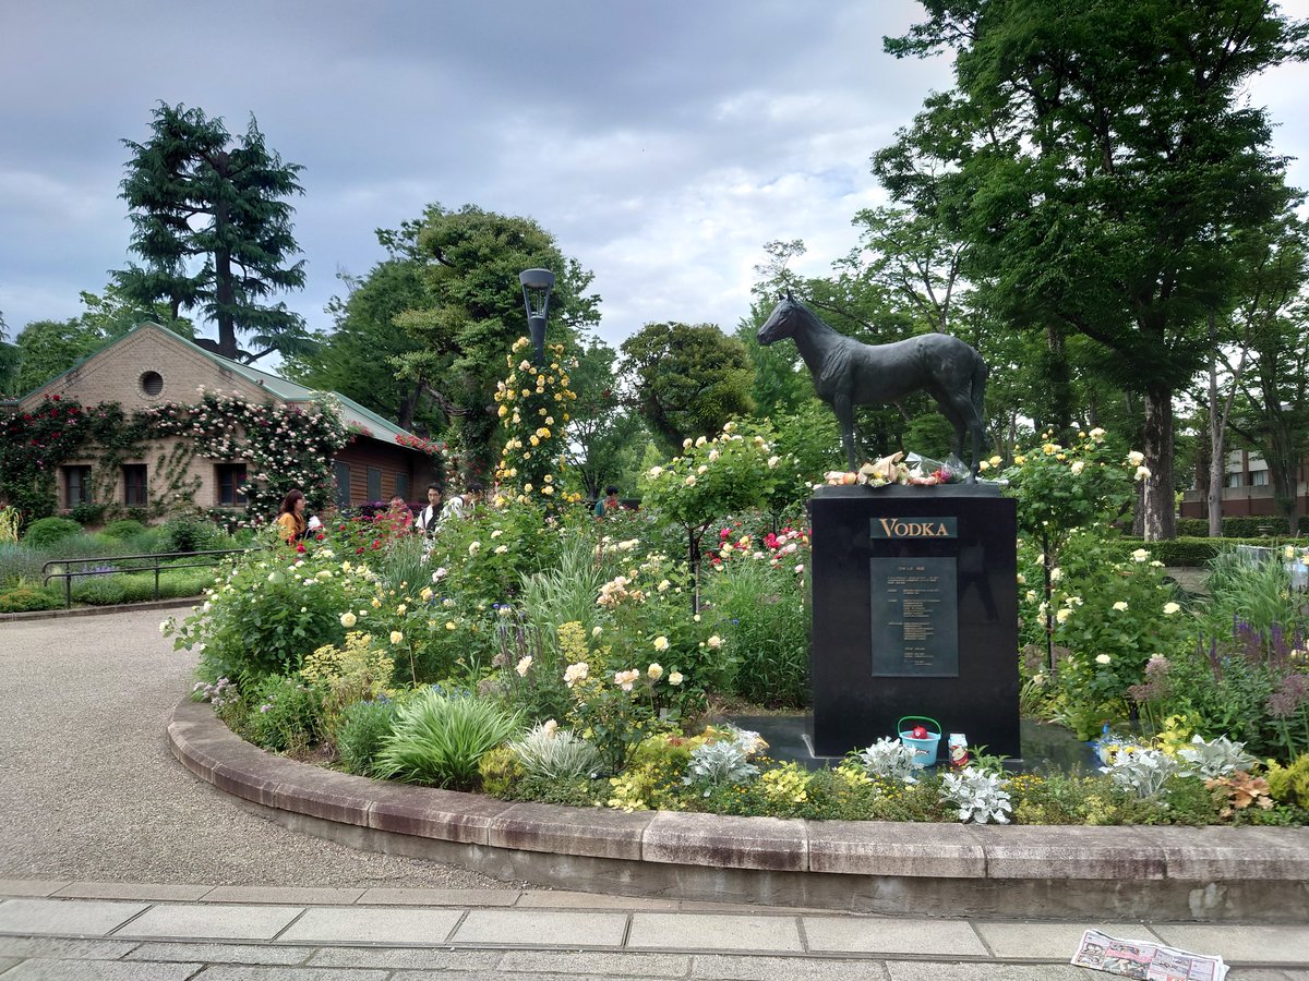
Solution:
{"label": "broad leafy green tree directly behind the lamp post", "polygon": [[586,293],[593,276],[531,218],[471,204],[458,211],[431,204],[421,221],[406,222],[397,234],[412,237],[425,296],[393,318],[415,347],[391,356],[390,364],[399,381],[452,420],[449,434],[463,451],[466,476],[484,479],[499,453],[492,394],[509,347],[528,332],[518,273],[555,273],[551,344],[571,344],[579,330],[598,322],[600,297]]}

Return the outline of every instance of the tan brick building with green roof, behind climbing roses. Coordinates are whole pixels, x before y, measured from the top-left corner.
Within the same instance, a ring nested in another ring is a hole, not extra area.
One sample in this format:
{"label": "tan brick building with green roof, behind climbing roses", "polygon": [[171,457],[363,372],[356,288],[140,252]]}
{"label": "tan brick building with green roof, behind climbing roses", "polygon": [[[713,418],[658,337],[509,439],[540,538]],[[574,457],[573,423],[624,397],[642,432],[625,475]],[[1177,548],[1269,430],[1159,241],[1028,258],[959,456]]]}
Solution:
{"label": "tan brick building with green roof, behind climbing roses", "polygon": [[[157,324],[143,323],[27,392],[14,408],[30,412],[45,398],[58,395],[84,405],[115,402],[131,413],[166,402],[199,402],[202,388],[278,405],[306,404],[321,396],[302,385],[220,357]],[[427,453],[402,442],[412,441],[412,434],[343,395],[332,392],[332,398],[355,434],[332,464],[336,504],[357,506],[397,493],[406,500],[423,497],[436,475]],[[166,485],[178,483],[196,488],[191,500],[199,508],[242,508],[246,463],[175,454],[181,439],[158,439],[140,456],[119,462],[115,473],[105,473],[93,454],[67,460],[59,472],[59,508],[90,502],[148,509],[160,502]],[[185,459],[178,464],[185,470],[168,473],[165,480],[160,471],[169,459]]]}

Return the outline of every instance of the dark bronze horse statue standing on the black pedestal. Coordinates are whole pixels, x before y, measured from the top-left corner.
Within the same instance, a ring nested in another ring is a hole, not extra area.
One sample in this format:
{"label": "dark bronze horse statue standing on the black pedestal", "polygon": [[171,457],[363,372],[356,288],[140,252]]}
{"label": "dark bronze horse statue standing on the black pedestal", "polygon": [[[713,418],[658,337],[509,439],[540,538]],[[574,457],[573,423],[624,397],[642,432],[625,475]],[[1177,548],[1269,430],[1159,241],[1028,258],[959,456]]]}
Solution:
{"label": "dark bronze horse statue standing on the black pedestal", "polygon": [[969,483],[977,480],[986,445],[982,407],[987,366],[969,344],[948,334],[864,344],[834,331],[789,290],[758,335],[763,345],[783,337],[795,339],[818,398],[836,413],[851,470],[855,470],[855,405],[898,403],[906,395],[925,391],[954,426],[956,456],[963,458],[963,434],[973,437]]}

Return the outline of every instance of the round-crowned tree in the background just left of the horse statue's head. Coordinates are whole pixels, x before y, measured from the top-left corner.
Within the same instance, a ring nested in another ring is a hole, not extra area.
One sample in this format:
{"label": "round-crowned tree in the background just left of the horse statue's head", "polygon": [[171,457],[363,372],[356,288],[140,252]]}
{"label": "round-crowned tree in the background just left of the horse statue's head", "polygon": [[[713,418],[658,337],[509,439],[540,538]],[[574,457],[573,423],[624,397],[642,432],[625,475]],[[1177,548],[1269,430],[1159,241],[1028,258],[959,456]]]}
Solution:
{"label": "round-crowned tree in the background just left of the horse statue's head", "polygon": [[750,356],[712,323],[648,323],[620,349],[636,411],[670,451],[754,409]]}

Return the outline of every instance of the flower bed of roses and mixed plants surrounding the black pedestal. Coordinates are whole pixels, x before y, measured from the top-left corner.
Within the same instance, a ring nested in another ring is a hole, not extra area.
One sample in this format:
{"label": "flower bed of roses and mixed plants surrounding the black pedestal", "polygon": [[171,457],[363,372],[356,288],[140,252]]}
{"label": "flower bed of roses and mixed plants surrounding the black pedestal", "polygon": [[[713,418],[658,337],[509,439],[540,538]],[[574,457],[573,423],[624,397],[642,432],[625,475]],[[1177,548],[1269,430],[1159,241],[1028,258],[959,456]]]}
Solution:
{"label": "flower bed of roses and mixed plants surrounding the black pedestal", "polygon": [[[238,566],[165,632],[203,645],[198,697],[259,746],[507,800],[813,819],[1304,823],[1302,599],[1275,569],[1266,579],[1219,570],[1220,587],[1223,576],[1240,583],[1249,623],[1212,633],[1210,650],[1187,659],[1195,627],[1215,629],[1237,600],[1219,589],[1212,610],[1186,608],[1148,553],[1109,561],[1118,553],[1103,515],[1148,475],[1098,432],[1067,450],[1046,442],[1008,475],[1020,517],[1043,535],[1020,583],[1030,590],[1025,630],[1037,641],[1049,625],[1059,642],[1029,647],[1025,701],[1086,735],[1138,715],[1145,734],[1119,740],[1105,773],[1011,776],[975,749],[969,769],[922,774],[891,743],[851,747],[840,765],[809,772],[768,759],[754,734],[707,726],[724,702],[805,698],[809,543],[779,506],[784,488],[802,487],[789,466],[766,433],[729,428],[652,468],[639,514],[597,522],[560,489],[548,508],[526,492],[501,496],[432,542],[343,521]],[[534,488],[565,485],[565,475],[533,476]],[[1251,606],[1255,595],[1266,602]],[[1183,671],[1185,688],[1165,683]]]}

